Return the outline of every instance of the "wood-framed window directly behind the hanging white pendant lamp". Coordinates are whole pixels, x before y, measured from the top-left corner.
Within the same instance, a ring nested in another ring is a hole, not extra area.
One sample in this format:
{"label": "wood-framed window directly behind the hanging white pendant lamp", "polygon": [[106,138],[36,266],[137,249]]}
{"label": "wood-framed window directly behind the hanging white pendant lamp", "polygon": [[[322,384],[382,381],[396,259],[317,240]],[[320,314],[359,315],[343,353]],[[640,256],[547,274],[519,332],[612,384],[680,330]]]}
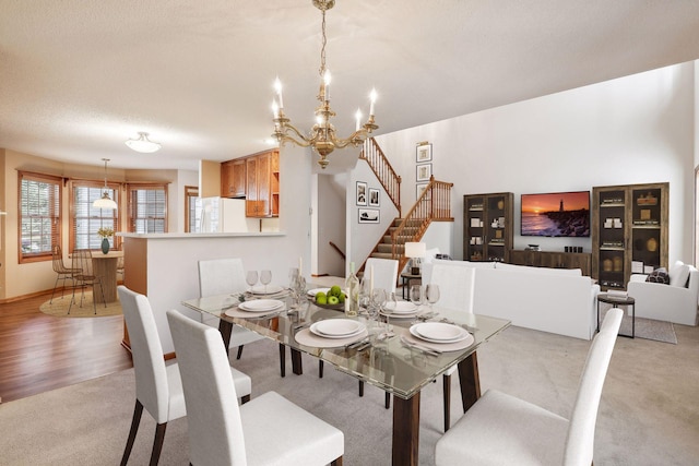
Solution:
{"label": "wood-framed window directly behind the hanging white pendant lamp", "polygon": [[[74,249],[99,249],[102,238],[97,236],[99,228],[119,229],[119,210],[97,208],[92,203],[102,198],[105,188],[98,181],[71,181],[71,228],[70,228],[70,250]],[[107,194],[119,205],[119,184],[107,184]],[[109,238],[111,247],[118,248],[119,239],[115,236]]]}

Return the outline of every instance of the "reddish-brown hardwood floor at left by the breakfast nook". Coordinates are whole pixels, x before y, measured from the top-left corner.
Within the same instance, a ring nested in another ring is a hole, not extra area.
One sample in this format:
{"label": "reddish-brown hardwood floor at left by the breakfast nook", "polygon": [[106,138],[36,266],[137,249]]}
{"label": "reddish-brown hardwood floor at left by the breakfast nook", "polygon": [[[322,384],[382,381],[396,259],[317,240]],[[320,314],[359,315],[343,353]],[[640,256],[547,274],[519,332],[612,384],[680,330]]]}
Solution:
{"label": "reddish-brown hardwood floor at left by the breakfast nook", "polygon": [[39,311],[49,298],[50,294],[0,304],[2,403],[133,366],[121,346],[122,315],[50,316]]}

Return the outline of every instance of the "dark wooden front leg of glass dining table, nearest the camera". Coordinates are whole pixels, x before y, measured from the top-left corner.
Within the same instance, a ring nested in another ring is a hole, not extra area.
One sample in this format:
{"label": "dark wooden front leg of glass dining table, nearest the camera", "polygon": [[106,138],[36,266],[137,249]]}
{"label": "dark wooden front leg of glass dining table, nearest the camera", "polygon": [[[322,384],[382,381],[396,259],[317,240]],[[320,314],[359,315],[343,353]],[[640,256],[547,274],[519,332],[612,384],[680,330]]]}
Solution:
{"label": "dark wooden front leg of glass dining table, nearest the camera", "polygon": [[410,399],[393,397],[393,466],[416,466],[419,462],[419,392]]}

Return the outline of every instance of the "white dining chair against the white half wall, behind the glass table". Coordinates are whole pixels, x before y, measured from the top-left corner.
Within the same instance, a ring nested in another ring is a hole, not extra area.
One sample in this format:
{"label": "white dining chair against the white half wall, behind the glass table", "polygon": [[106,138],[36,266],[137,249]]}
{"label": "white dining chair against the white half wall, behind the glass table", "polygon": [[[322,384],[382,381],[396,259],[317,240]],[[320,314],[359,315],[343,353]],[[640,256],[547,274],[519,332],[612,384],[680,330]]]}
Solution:
{"label": "white dining chair against the white half wall, behind the glass table", "polygon": [[[212,259],[199,261],[199,296],[201,298],[229,292],[241,292],[246,290],[245,268],[242,260],[238,258]],[[218,319],[209,314],[201,314],[203,323],[218,325]],[[236,359],[242,355],[242,346],[249,343],[264,339],[252,331],[234,325],[230,332],[229,348],[238,347]]]}

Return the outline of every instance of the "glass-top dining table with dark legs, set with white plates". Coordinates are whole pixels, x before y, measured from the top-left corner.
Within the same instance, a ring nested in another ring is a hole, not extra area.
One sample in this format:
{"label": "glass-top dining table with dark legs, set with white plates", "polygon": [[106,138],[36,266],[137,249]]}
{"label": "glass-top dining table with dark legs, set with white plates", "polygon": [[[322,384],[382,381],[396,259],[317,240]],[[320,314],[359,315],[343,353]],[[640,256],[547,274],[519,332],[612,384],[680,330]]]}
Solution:
{"label": "glass-top dining table with dark legs, set with white plates", "polygon": [[[510,325],[503,319],[435,307],[433,319],[418,321],[417,312],[389,313],[388,328],[376,322],[371,327],[365,316],[347,319],[340,306],[316,306],[310,299],[289,311],[287,300],[277,295],[284,306],[273,304],[276,307],[265,312],[253,298],[259,297],[228,294],[189,299],[182,304],[220,318],[226,348],[233,325],[240,325],[277,342],[282,351],[291,348],[294,373],[303,373],[300,355],[307,354],[394,395],[391,451],[395,466],[418,464],[422,389],[458,365],[465,413],[481,396],[478,347]],[[420,327],[423,323],[430,325]],[[417,333],[419,328],[425,335]],[[445,342],[426,336],[449,334],[451,338],[452,332],[453,339]]]}

